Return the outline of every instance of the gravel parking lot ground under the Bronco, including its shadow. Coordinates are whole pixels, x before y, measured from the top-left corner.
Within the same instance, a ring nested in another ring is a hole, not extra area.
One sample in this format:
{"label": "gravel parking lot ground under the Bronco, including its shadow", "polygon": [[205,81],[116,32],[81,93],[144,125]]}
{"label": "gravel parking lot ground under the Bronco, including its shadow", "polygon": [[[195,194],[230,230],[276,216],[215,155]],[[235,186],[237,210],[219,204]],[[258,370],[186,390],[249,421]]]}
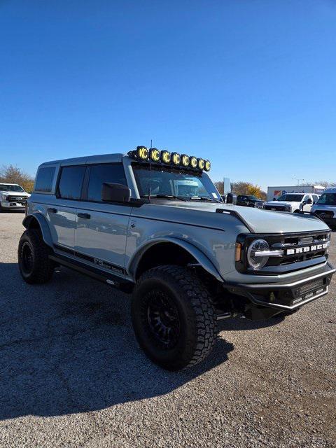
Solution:
{"label": "gravel parking lot ground under the Bronco, including its shadow", "polygon": [[63,268],[22,281],[22,218],[0,214],[1,447],[335,447],[335,278],[286,319],[222,321],[210,358],[170,373],[127,295]]}

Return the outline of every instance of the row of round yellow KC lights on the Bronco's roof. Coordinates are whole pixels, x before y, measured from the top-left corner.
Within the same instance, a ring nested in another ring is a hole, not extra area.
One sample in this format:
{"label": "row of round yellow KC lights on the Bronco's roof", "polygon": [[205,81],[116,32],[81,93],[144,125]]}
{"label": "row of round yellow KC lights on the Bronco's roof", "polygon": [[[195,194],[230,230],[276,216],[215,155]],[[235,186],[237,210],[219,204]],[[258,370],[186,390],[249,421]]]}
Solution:
{"label": "row of round yellow KC lights on the Bronco's roof", "polygon": [[157,148],[146,148],[146,146],[137,146],[135,151],[128,153],[130,157],[141,160],[141,162],[152,162],[162,165],[173,165],[175,167],[183,167],[190,169],[198,169],[200,171],[210,171],[211,163],[209,160],[196,158],[193,155],[169,153],[169,151],[160,151]]}

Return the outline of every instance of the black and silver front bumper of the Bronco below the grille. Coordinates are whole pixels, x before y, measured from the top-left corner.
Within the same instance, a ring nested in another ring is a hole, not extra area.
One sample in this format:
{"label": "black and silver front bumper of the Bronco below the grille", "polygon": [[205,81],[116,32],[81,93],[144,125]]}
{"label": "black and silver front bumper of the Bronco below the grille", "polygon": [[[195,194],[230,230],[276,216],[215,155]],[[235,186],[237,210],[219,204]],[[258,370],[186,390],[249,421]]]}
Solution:
{"label": "black and silver front bumper of the Bronco below the grille", "polygon": [[318,273],[293,282],[239,283],[229,290],[244,295],[253,305],[246,307],[246,317],[267,318],[279,312],[295,311],[327,294],[335,272],[336,269],[327,262]]}

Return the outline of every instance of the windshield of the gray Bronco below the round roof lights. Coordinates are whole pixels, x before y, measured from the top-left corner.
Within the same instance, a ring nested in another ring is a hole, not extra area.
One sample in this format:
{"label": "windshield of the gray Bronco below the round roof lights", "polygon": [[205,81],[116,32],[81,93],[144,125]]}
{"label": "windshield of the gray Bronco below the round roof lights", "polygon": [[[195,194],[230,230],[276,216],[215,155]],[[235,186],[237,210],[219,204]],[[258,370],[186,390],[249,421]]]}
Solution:
{"label": "windshield of the gray Bronco below the round roof lights", "polygon": [[152,167],[132,164],[141,197],[176,197],[181,200],[221,201],[214,184],[205,173],[172,167]]}

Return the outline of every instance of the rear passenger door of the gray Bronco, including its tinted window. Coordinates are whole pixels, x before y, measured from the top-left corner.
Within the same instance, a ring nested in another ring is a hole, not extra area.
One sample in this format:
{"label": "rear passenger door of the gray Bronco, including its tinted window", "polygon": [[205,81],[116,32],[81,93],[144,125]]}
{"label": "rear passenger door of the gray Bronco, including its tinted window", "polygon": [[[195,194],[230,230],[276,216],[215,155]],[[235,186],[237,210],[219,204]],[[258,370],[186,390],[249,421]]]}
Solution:
{"label": "rear passenger door of the gray Bronco, including its tinted window", "polygon": [[47,208],[52,241],[57,248],[73,250],[76,228],[76,202],[80,200],[85,165],[62,167],[56,199]]}

